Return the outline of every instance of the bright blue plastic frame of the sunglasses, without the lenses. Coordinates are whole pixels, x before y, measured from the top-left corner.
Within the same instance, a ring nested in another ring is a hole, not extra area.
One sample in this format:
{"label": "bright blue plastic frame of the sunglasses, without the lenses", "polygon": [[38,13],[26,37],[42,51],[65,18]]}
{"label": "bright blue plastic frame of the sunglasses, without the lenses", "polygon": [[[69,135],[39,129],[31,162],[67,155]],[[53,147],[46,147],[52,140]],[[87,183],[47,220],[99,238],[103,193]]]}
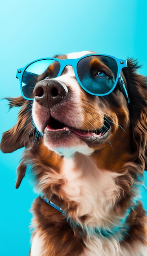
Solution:
{"label": "bright blue plastic frame of the sunglasses, without the lenses", "polygon": [[[112,59],[114,59],[114,61],[116,61],[117,63],[117,67],[118,67],[118,70],[117,70],[117,76],[116,76],[116,80],[115,80],[115,83],[112,87],[112,89],[107,92],[107,93],[103,93],[103,94],[95,94],[95,93],[92,93],[90,91],[88,91],[81,83],[80,79],[79,79],[79,76],[78,76],[78,72],[77,72],[77,65],[79,63],[79,61],[83,58],[86,58],[86,57],[89,57],[89,56],[104,56],[104,57],[110,57]],[[76,79],[79,83],[79,85],[81,86],[81,88],[83,88],[84,91],[88,92],[89,94],[91,95],[94,95],[94,96],[105,96],[105,95],[108,95],[110,94],[114,88],[116,87],[116,84],[117,82],[120,84],[121,86],[121,90],[123,91],[123,94],[125,95],[125,98],[127,99],[128,103],[129,103],[129,97],[128,97],[128,94],[127,94],[127,89],[125,88],[125,83],[123,81],[123,78],[121,76],[121,70],[123,69],[123,67],[127,67],[127,60],[122,60],[122,59],[118,59],[118,58],[115,58],[111,55],[107,55],[107,54],[88,54],[88,55],[85,55],[85,56],[81,56],[80,58],[72,58],[72,59],[58,59],[58,58],[39,58],[35,61],[32,61],[30,62],[29,64],[27,64],[25,67],[22,67],[22,68],[19,68],[17,70],[17,73],[16,73],[16,78],[19,79],[20,81],[20,90],[21,90],[21,93],[22,93],[22,96],[24,97],[24,99],[27,99],[27,100],[34,100],[34,98],[27,98],[24,93],[23,93],[23,90],[22,90],[22,77],[23,77],[23,74],[26,70],[27,67],[29,67],[31,64],[37,62],[37,61],[43,61],[43,60],[53,60],[53,61],[58,61],[59,64],[60,64],[60,70],[59,70],[59,73],[56,77],[60,76],[64,70],[64,68],[68,65],[72,66],[74,72],[75,72],[75,76],[76,76]]]}

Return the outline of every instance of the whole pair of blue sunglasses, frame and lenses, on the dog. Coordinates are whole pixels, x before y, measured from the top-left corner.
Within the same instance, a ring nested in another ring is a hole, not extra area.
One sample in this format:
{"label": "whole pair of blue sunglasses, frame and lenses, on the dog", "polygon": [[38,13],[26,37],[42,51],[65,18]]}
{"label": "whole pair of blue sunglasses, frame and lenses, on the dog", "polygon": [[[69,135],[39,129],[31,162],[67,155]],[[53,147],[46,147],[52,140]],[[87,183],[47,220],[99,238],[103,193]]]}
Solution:
{"label": "whole pair of blue sunglasses, frame and lenses, on the dog", "polygon": [[129,96],[121,76],[127,61],[109,55],[89,54],[75,59],[41,58],[17,70],[24,99],[33,100],[36,83],[61,76],[66,66],[72,66],[76,79],[86,92],[95,96],[110,94],[119,83],[129,103]]}

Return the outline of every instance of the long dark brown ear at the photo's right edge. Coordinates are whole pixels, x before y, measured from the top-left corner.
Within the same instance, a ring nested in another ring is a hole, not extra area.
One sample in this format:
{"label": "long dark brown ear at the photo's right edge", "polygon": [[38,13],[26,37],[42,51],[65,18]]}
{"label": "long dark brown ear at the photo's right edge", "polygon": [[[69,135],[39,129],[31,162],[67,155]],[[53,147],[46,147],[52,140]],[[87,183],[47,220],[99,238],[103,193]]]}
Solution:
{"label": "long dark brown ear at the photo's right edge", "polygon": [[127,60],[123,68],[130,98],[129,113],[132,129],[134,160],[147,170],[147,77],[137,73],[137,61]]}

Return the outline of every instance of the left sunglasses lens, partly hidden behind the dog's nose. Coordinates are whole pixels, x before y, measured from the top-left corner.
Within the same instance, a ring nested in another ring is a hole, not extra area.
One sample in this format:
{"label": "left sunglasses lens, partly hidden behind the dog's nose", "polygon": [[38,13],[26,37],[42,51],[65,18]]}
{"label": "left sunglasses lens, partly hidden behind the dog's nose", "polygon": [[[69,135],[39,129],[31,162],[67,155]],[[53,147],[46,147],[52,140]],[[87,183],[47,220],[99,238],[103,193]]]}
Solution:
{"label": "left sunglasses lens, partly hidden behind the dog's nose", "polygon": [[60,64],[52,59],[35,61],[30,64],[22,76],[22,91],[26,98],[33,99],[33,90],[36,83],[49,76],[56,77],[59,73]]}

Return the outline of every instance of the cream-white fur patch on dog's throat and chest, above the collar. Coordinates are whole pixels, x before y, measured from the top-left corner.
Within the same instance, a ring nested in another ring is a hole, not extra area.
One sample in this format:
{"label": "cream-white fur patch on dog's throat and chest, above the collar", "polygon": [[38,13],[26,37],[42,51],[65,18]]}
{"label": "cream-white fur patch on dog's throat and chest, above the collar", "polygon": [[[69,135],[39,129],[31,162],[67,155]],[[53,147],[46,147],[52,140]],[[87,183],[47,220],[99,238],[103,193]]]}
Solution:
{"label": "cream-white fur patch on dog's throat and chest, above the collar", "polygon": [[[79,204],[77,217],[89,214],[88,225],[97,227],[105,222],[110,225],[116,216],[110,216],[112,205],[119,197],[120,187],[115,179],[118,173],[102,171],[97,168],[91,156],[81,156],[80,166],[77,167],[76,156],[65,158],[62,172],[66,183],[63,186],[68,200]],[[107,216],[110,216],[109,220]]]}

